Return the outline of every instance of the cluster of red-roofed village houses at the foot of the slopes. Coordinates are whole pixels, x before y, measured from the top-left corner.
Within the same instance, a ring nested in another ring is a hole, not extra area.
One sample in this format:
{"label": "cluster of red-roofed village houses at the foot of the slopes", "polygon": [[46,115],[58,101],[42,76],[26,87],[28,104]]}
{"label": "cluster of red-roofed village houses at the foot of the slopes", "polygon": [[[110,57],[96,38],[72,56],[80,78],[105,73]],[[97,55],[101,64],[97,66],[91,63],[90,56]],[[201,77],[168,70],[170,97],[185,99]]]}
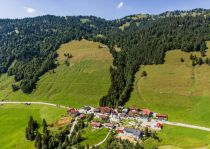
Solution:
{"label": "cluster of red-roofed village houses at the foot of the slopes", "polygon": [[115,130],[118,136],[131,137],[135,140],[144,135],[146,129],[159,131],[163,128],[163,121],[168,120],[167,115],[152,112],[149,109],[110,107],[93,108],[85,106],[81,109],[68,109],[68,114],[80,119],[85,119],[92,114],[90,125],[94,129],[106,127]]}

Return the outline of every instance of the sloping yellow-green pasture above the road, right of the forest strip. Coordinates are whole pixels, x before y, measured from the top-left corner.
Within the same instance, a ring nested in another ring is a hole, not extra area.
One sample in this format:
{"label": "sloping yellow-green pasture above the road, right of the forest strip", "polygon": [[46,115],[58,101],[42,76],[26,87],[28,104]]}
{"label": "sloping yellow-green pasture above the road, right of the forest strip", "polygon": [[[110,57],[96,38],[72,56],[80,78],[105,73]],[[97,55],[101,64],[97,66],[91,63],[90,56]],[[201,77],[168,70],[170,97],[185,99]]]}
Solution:
{"label": "sloping yellow-green pasture above the road, right of the forest strip", "polygon": [[[210,49],[206,55],[210,58]],[[168,114],[170,121],[210,127],[210,66],[192,67],[189,57],[190,53],[173,50],[166,53],[164,64],[142,66],[127,105]],[[141,77],[142,71],[147,77]]]}

